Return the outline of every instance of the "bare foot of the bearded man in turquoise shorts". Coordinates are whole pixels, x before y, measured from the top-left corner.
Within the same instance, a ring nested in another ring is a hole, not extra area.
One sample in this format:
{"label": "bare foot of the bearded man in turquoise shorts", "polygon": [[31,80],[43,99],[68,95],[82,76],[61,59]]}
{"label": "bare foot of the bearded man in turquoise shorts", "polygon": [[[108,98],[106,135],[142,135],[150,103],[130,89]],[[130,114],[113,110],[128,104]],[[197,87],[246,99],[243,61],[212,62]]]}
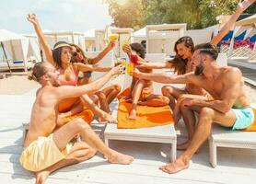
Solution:
{"label": "bare foot of the bearded man in turquoise shorts", "polygon": [[180,157],[172,163],[169,163],[166,166],[160,167],[160,169],[166,173],[174,174],[184,170],[190,166],[190,160]]}

